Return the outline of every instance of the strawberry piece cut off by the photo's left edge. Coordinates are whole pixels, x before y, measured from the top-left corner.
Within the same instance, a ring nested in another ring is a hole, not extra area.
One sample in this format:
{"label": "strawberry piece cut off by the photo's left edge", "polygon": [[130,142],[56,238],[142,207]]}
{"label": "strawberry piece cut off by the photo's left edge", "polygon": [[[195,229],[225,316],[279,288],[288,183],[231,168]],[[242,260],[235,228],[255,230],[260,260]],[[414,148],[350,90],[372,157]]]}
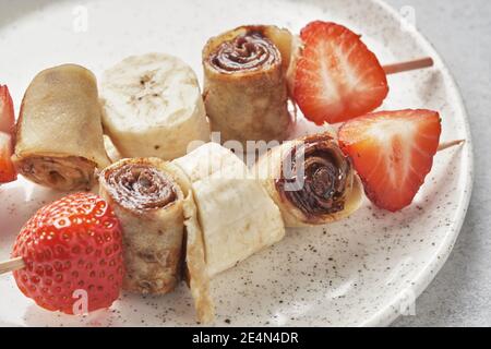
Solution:
{"label": "strawberry piece cut off by the photo's left edge", "polygon": [[15,117],[9,88],[0,85],[0,183],[17,179],[11,157],[13,155],[13,134]]}

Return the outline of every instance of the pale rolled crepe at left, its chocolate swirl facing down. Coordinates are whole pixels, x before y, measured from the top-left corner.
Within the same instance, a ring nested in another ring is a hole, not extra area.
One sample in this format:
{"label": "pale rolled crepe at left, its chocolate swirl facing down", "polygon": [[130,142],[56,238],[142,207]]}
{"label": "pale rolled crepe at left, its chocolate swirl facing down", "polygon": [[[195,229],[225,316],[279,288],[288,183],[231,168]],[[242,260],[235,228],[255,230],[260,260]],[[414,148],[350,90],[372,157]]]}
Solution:
{"label": "pale rolled crepe at left, its chocolate swirl facing down", "polygon": [[109,165],[94,74],[67,64],[40,72],[25,93],[14,164],[35,183],[60,191],[91,189]]}

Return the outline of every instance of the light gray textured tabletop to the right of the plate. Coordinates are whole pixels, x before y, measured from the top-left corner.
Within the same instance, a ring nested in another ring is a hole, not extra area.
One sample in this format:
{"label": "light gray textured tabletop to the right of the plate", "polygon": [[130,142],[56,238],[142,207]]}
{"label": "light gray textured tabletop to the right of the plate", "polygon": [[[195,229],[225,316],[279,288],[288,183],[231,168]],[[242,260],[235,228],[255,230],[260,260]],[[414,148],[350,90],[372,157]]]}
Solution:
{"label": "light gray textured tabletop to the right of the plate", "polygon": [[386,0],[411,5],[418,28],[460,86],[476,153],[476,184],[448,263],[417,302],[417,316],[395,326],[491,326],[491,1]]}

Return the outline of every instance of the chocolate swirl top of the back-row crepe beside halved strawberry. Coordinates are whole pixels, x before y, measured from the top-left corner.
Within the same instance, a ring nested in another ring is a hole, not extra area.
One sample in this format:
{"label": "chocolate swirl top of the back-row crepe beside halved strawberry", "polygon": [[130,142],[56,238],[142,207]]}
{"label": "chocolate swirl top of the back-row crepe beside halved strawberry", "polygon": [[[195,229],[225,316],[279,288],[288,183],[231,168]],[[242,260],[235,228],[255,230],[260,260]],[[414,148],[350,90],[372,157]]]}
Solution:
{"label": "chocolate swirl top of the back-row crepe beside halved strawberry", "polygon": [[223,73],[255,71],[280,63],[278,48],[260,31],[236,37],[218,46],[209,57],[212,67]]}

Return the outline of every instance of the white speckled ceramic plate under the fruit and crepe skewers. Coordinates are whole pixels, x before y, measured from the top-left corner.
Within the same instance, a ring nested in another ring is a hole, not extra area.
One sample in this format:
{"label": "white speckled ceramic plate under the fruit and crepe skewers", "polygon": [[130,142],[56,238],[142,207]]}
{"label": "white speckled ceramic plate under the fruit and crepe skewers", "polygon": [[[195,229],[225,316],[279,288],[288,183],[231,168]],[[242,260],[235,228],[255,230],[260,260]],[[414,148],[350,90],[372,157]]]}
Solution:
{"label": "white speckled ceramic plate under the fruit and crepe skewers", "polygon": [[[472,151],[459,93],[438,53],[396,12],[367,0],[213,1],[8,1],[0,0],[0,81],[19,107],[40,70],[76,62],[96,74],[129,55],[164,51],[199,73],[211,36],[241,24],[264,23],[298,32],[312,20],[331,20],[362,33],[382,62],[422,56],[431,70],[391,76],[383,109],[431,108],[443,117],[443,140],[466,139],[463,148],[436,156],[415,204],[387,214],[369,203],[352,218],[288,237],[213,282],[217,325],[387,325],[419,296],[446,261],[460,230],[472,185]],[[87,14],[86,32],[83,15]],[[82,32],[81,32],[82,29]],[[300,132],[300,131],[299,131]],[[16,232],[59,193],[20,180],[0,189],[0,258]],[[0,277],[0,325],[195,325],[182,286],[171,296],[123,294],[111,310],[87,317],[52,314]],[[410,310],[410,306],[409,306]]]}

